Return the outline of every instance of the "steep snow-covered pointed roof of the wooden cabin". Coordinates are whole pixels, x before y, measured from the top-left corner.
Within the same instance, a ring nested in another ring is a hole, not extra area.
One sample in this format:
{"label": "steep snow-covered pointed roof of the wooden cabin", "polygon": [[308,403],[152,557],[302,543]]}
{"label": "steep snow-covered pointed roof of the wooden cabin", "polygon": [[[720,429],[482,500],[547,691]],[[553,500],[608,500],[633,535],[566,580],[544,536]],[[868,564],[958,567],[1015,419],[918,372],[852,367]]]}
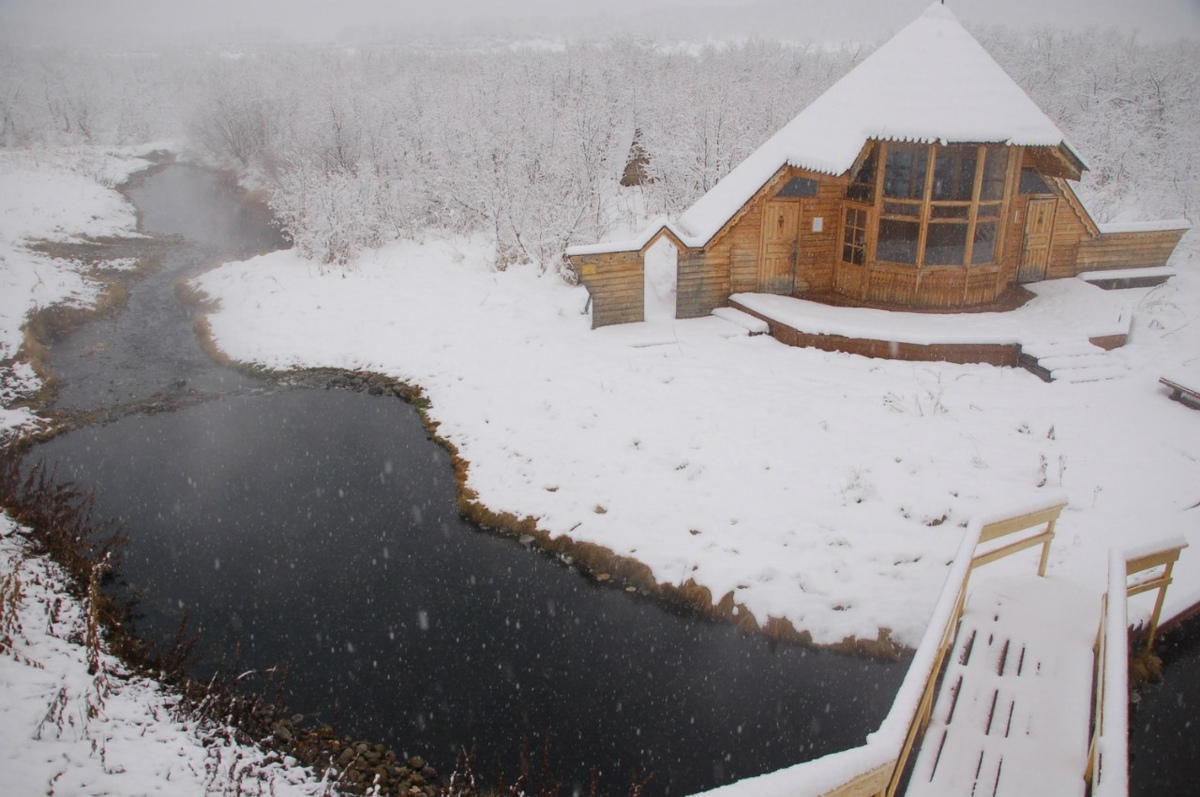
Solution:
{"label": "steep snow-covered pointed roof of the wooden cabin", "polygon": [[846,173],[869,139],[1048,146],[1080,168],[1062,131],[941,2],[817,97],[680,217],[707,242],[782,166]]}

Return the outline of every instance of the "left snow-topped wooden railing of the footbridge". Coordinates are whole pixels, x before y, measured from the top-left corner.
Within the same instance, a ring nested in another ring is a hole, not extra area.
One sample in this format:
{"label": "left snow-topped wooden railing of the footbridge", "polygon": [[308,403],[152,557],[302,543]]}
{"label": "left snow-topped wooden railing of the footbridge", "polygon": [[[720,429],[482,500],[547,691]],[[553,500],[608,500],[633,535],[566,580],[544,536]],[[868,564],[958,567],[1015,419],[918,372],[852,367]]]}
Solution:
{"label": "left snow-topped wooden railing of the footbridge", "polygon": [[[929,724],[942,666],[954,645],[971,573],[984,564],[1042,545],[1038,575],[1045,575],[1061,497],[967,528],[938,595],[925,634],[892,709],[862,747],[806,761],[706,792],[706,797],[893,797],[908,756]],[[1015,539],[1013,535],[1018,535]]]}

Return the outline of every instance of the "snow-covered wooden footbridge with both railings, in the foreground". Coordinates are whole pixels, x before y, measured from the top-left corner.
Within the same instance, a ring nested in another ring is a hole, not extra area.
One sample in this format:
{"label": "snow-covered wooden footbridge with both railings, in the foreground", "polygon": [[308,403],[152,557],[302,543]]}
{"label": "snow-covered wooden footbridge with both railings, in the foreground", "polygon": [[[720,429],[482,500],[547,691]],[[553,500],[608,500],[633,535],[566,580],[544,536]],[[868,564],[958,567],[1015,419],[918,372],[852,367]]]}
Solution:
{"label": "snow-covered wooden footbridge with both railings, in the foreground", "polygon": [[[1104,592],[1048,579],[1062,501],[1050,495],[971,525],[892,711],[866,744],[706,797],[1128,797],[1126,601],[1158,591],[1152,641],[1188,543],[1112,549]],[[1028,549],[1042,550],[1037,575],[1021,575],[1013,559],[992,564]]]}

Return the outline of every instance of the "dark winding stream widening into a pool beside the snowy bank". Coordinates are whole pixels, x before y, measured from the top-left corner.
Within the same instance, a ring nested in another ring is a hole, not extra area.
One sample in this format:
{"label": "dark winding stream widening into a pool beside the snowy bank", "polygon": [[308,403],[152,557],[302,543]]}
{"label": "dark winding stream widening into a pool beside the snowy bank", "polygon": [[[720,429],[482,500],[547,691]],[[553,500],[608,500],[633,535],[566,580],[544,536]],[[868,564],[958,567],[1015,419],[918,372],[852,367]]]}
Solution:
{"label": "dark winding stream widening into a pool beside the snowy bank", "polygon": [[[211,362],[174,283],[277,247],[212,174],[168,166],[131,191],[148,232],[181,235],[127,310],[52,352],[64,407],[217,394],[40,447],[96,487],[131,537],[122,576],[145,587],[138,629],[166,639],[186,611],[212,657],[283,664],[311,723],[420,754],[443,773],[515,775],[548,744],[574,793],[653,773],[680,795],[863,742],[905,673],[770,646],[592,583],[481,533],[456,511],[446,453],[412,407],[346,390],[276,391]],[[116,412],[115,415],[121,413]]]}

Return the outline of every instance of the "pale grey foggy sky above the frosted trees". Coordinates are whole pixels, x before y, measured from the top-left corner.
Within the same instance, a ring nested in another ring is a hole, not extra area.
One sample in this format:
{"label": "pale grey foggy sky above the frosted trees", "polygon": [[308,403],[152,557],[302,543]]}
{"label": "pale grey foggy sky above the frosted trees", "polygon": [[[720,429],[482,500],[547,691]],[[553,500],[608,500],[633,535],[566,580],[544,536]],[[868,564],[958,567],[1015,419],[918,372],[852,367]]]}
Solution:
{"label": "pale grey foggy sky above the frosted trees", "polygon": [[[875,41],[930,0],[0,0],[0,38],[154,46],[175,41],[371,41],[646,32]],[[1200,38],[1200,0],[948,0],[968,26],[1121,28]]]}

